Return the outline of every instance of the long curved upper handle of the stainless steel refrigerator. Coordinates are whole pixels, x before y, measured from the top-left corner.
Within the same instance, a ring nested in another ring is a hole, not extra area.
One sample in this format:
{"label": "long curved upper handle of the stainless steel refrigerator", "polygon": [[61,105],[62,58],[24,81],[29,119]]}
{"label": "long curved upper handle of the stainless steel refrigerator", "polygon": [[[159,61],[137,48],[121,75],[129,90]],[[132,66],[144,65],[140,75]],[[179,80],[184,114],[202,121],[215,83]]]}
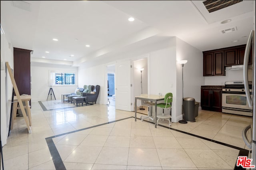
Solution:
{"label": "long curved upper handle of the stainless steel refrigerator", "polygon": [[245,89],[246,98],[247,98],[249,107],[252,107],[252,98],[250,95],[249,85],[248,85],[248,59],[249,59],[250,47],[253,43],[253,33],[254,31],[251,30],[248,41],[246,43],[245,52],[244,52],[244,89]]}

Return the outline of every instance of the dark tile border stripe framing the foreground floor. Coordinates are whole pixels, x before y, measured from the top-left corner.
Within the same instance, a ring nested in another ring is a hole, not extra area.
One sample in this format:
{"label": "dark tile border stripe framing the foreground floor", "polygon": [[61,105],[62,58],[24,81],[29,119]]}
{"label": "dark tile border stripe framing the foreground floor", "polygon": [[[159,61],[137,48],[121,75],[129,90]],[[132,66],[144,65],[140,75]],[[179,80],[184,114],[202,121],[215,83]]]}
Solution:
{"label": "dark tile border stripe framing the foreground floor", "polygon": [[[39,101],[38,101],[39,102]],[[39,103],[40,104],[40,103]],[[71,132],[66,132],[66,133],[62,133],[62,134],[58,134],[58,135],[54,135],[54,136],[50,136],[48,138],[45,138],[46,140],[46,143],[48,145],[48,148],[50,150],[50,153],[51,153],[51,156],[52,156],[52,160],[53,160],[53,163],[54,163],[54,166],[56,168],[56,170],[66,170],[66,167],[64,166],[64,163],[60,157],[60,154],[52,140],[52,138],[56,138],[58,136],[63,136],[63,135],[66,135],[66,134],[70,134],[70,133],[74,133],[74,132],[79,132],[81,130],[86,130],[86,129],[89,129],[89,128],[94,128],[94,127],[99,127],[99,126],[102,126],[102,125],[107,125],[107,124],[110,124],[110,123],[114,123],[114,122],[118,122],[118,121],[123,121],[123,120],[126,120],[126,119],[130,119],[130,118],[135,118],[134,116],[132,117],[127,117],[127,118],[124,118],[124,119],[119,119],[119,120],[116,120],[116,121],[111,121],[111,122],[107,122],[107,123],[102,123],[100,125],[94,125],[92,127],[87,127],[87,128],[82,128],[82,129],[78,129],[78,130],[74,130],[74,131],[71,131]],[[138,120],[140,120],[139,118],[137,118]],[[146,121],[146,120],[143,120],[145,122],[148,122],[148,123],[152,123],[154,124],[153,122],[150,122],[150,121]],[[248,156],[249,154],[249,150],[246,150],[244,148],[240,148],[240,147],[237,147],[237,146],[233,146],[233,145],[230,145],[230,144],[226,144],[226,143],[223,143],[223,142],[219,142],[217,140],[212,140],[212,139],[209,139],[209,138],[205,138],[205,137],[202,137],[202,136],[198,136],[196,134],[192,134],[192,133],[189,133],[189,132],[184,132],[184,131],[181,131],[181,130],[178,130],[178,129],[175,129],[175,128],[171,128],[171,127],[166,127],[166,126],[163,126],[163,125],[158,125],[160,127],[164,127],[164,128],[168,128],[168,129],[171,129],[171,130],[175,130],[177,132],[181,132],[181,133],[184,133],[184,134],[188,134],[188,135],[191,135],[191,136],[195,136],[197,138],[201,138],[201,139],[204,139],[204,140],[208,140],[210,142],[214,142],[214,143],[217,143],[217,144],[221,144],[221,145],[224,145],[224,146],[228,146],[230,148],[234,148],[234,149],[237,149],[239,150],[239,154],[238,156]],[[236,165],[234,166],[234,169],[235,170],[244,170],[244,168],[242,168],[241,166],[237,167]]]}

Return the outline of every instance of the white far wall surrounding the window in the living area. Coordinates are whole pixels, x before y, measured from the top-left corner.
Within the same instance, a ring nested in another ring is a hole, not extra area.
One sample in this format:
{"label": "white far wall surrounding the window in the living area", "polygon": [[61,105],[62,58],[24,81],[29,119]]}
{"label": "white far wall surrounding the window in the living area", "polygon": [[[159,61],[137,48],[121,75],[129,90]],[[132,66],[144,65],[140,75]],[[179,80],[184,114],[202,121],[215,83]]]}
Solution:
{"label": "white far wall surrounding the window in the living area", "polygon": [[[46,101],[50,86],[48,79],[50,79],[50,71],[64,71],[64,72],[77,72],[77,67],[71,67],[68,65],[56,65],[46,63],[31,63],[30,74],[32,77],[32,89],[31,89],[31,101]],[[79,77],[78,77],[79,79]],[[74,93],[78,85],[63,85],[63,86],[52,86],[54,95],[57,100],[61,99],[61,94]],[[80,87],[80,86],[79,86]],[[81,86],[82,88],[83,86]],[[48,100],[50,99],[50,96]],[[52,95],[52,99],[54,99]]]}

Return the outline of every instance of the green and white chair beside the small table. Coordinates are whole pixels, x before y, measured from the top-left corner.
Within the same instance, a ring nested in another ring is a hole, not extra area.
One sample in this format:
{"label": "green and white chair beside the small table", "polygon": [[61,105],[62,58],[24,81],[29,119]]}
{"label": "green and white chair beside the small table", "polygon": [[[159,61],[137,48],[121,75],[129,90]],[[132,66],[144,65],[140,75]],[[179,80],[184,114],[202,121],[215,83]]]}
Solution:
{"label": "green and white chair beside the small table", "polygon": [[[164,96],[164,103],[158,103],[157,107],[163,108],[163,113],[162,114],[157,114],[157,121],[156,125],[158,125],[158,121],[162,119],[162,121],[167,120],[169,121],[169,126],[171,126],[171,121],[170,119],[172,118],[171,113],[172,113],[172,93],[166,93]],[[164,109],[169,110],[170,109],[170,114],[164,114]]]}

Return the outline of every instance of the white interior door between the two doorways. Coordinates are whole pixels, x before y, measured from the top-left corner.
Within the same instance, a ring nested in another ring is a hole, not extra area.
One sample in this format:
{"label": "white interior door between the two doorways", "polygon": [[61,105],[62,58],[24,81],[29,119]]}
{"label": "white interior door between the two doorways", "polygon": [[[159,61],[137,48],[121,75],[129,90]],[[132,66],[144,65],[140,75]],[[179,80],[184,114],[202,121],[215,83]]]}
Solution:
{"label": "white interior door between the two doorways", "polygon": [[116,109],[131,111],[131,62],[116,62]]}

